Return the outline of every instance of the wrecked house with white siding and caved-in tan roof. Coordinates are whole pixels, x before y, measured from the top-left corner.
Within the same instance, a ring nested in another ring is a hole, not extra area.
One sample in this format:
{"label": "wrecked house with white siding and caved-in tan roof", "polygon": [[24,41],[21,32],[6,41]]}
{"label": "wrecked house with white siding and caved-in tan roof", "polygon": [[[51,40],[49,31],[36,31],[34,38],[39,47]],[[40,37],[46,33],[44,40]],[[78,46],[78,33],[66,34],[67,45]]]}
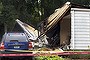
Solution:
{"label": "wrecked house with white siding and caved-in tan roof", "polygon": [[67,2],[56,9],[41,25],[50,46],[90,49],[90,9]]}

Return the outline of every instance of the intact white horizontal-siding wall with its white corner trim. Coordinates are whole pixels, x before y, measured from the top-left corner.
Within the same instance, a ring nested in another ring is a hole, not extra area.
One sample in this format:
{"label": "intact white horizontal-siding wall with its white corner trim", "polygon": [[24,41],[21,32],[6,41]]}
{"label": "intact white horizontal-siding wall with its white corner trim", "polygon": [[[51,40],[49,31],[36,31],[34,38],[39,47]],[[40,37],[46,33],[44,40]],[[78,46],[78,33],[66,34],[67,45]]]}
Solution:
{"label": "intact white horizontal-siding wall with its white corner trim", "polygon": [[71,49],[90,49],[90,9],[71,8]]}

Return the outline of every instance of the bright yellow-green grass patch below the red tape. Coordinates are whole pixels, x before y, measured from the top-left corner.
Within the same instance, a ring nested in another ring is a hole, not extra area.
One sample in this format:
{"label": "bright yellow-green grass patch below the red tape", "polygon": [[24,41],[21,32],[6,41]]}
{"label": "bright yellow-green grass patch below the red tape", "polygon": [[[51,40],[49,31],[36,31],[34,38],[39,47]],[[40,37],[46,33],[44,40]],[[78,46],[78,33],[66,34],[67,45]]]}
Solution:
{"label": "bright yellow-green grass patch below the red tape", "polygon": [[33,60],[64,60],[64,59],[59,56],[38,56],[34,57]]}

